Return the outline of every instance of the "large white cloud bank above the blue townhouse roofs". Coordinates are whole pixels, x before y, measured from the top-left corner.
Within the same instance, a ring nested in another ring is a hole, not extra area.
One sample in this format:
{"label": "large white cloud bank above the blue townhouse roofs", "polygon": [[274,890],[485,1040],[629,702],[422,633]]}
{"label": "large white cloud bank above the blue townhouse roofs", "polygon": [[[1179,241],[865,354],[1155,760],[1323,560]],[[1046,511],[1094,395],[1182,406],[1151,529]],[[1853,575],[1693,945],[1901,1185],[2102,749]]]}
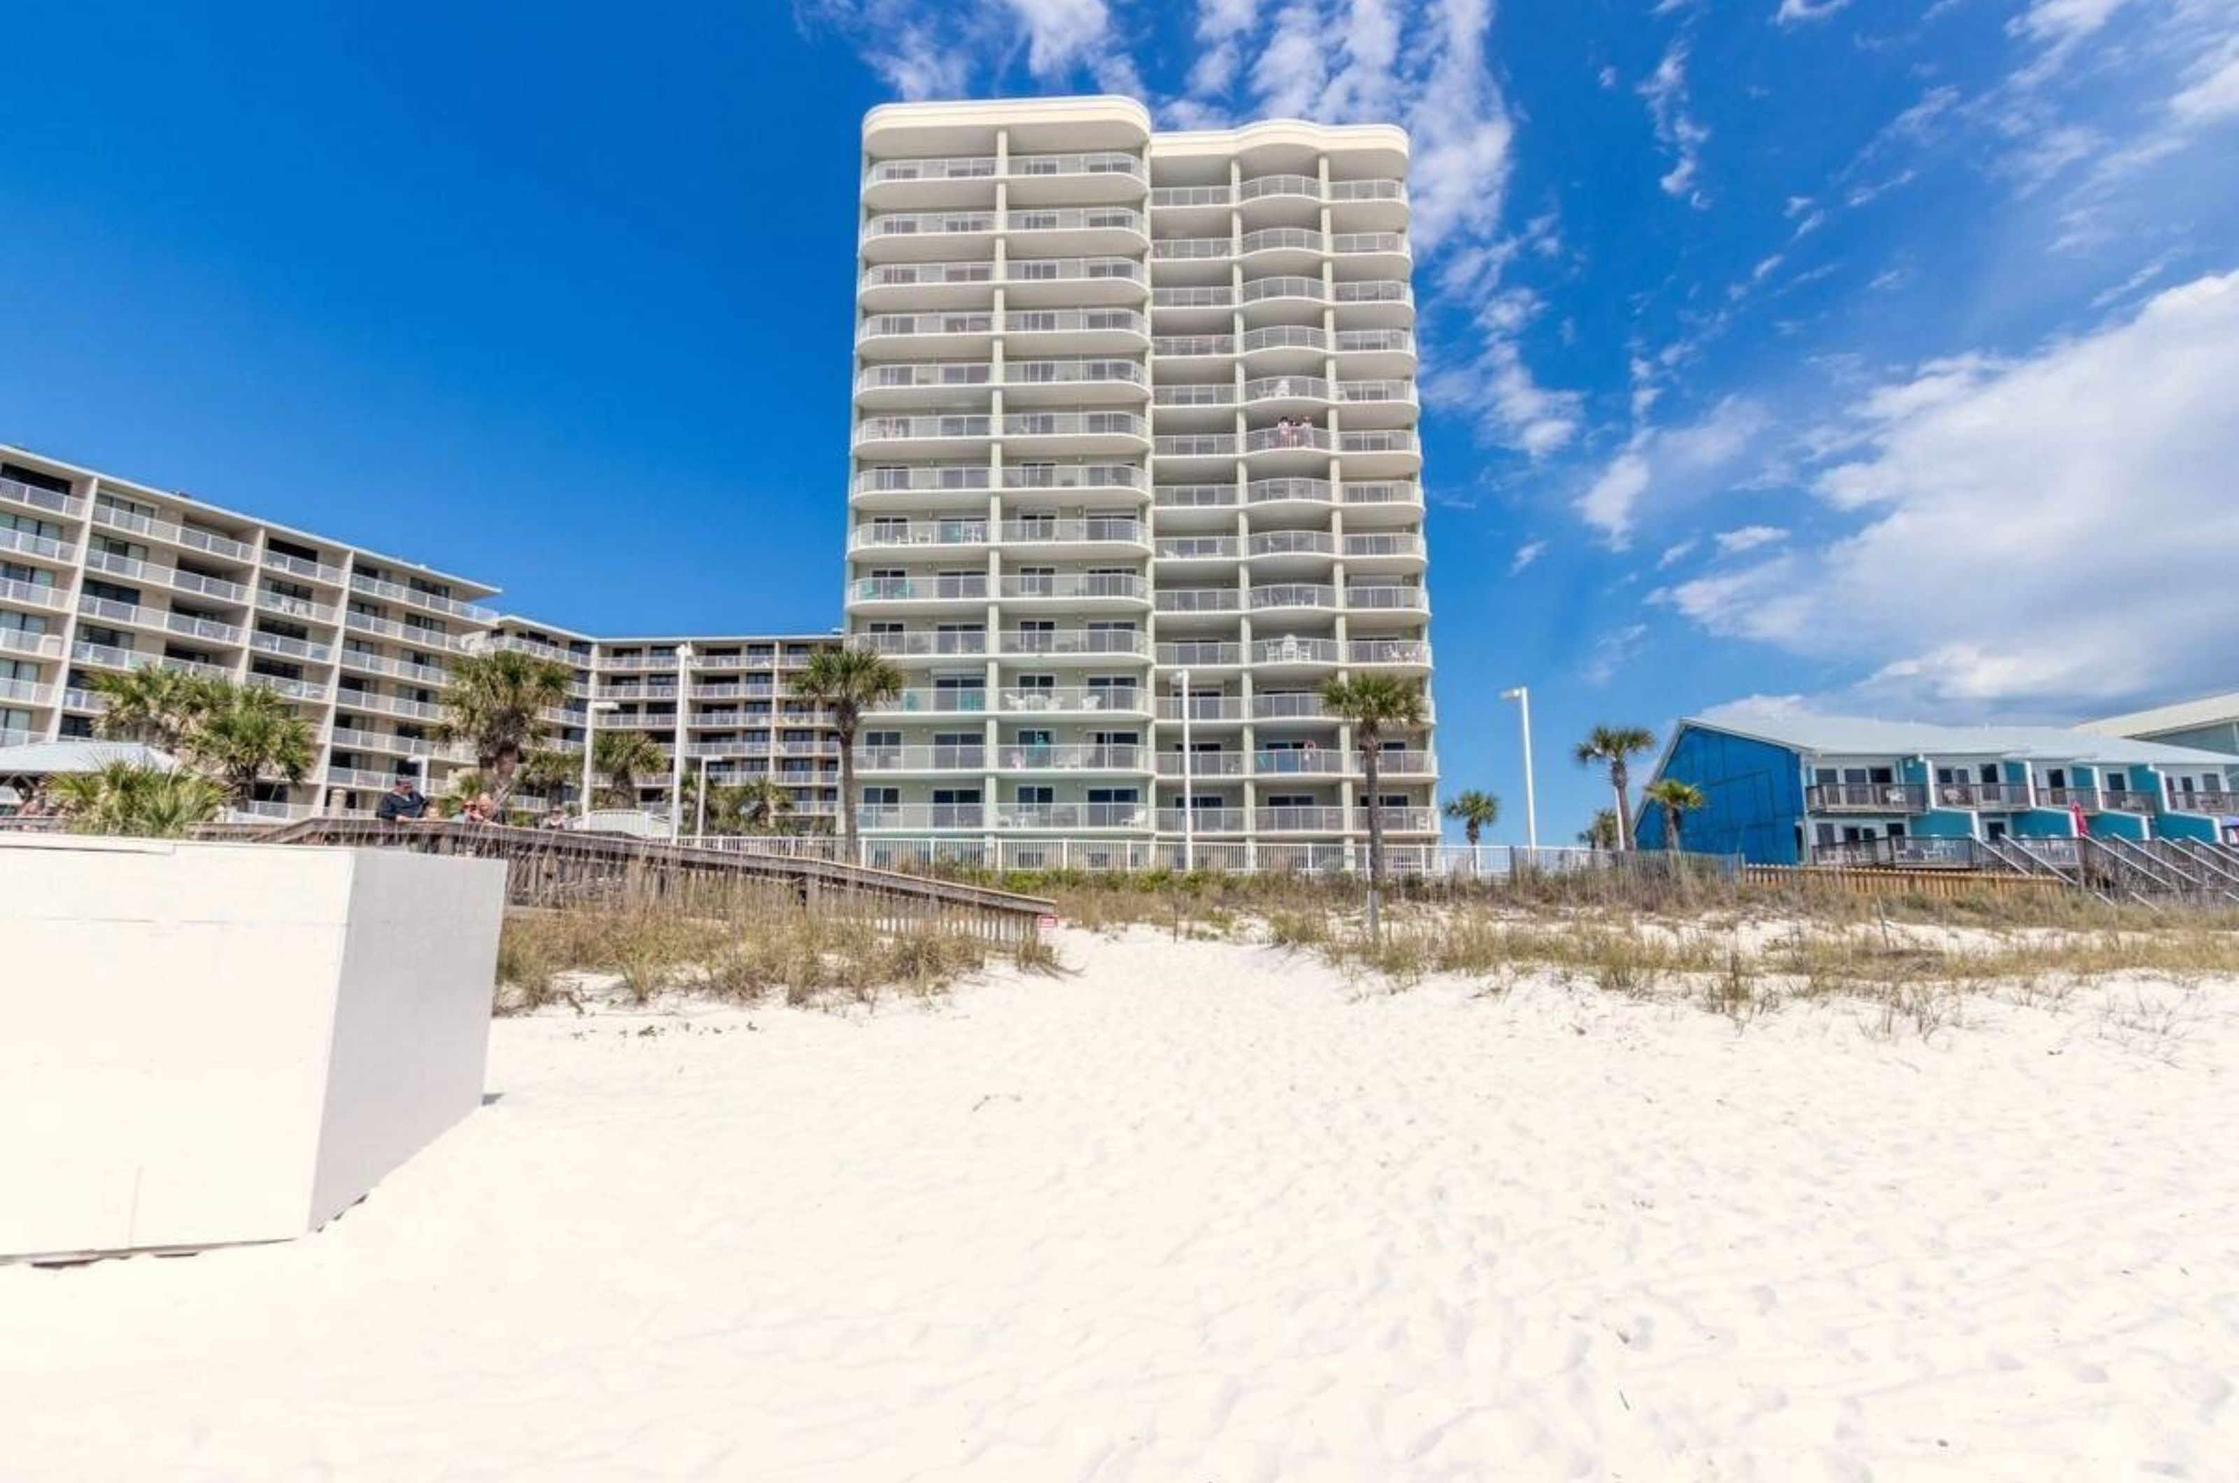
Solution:
{"label": "large white cloud bank above the blue townhouse roofs", "polygon": [[1863,665],[1921,710],[2091,710],[2230,681],[2239,273],[1863,397],[1814,488],[1863,524],[1681,582],[1704,627]]}

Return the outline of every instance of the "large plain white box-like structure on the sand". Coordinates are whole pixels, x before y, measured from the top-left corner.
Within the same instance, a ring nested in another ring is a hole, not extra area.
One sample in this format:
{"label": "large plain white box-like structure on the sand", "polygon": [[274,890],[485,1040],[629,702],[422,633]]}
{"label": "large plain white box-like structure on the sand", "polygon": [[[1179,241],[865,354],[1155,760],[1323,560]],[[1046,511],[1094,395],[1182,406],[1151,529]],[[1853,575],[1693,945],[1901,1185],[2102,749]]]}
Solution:
{"label": "large plain white box-like structure on the sand", "polygon": [[504,867],[0,838],[0,1257],[298,1237],[481,1100]]}

